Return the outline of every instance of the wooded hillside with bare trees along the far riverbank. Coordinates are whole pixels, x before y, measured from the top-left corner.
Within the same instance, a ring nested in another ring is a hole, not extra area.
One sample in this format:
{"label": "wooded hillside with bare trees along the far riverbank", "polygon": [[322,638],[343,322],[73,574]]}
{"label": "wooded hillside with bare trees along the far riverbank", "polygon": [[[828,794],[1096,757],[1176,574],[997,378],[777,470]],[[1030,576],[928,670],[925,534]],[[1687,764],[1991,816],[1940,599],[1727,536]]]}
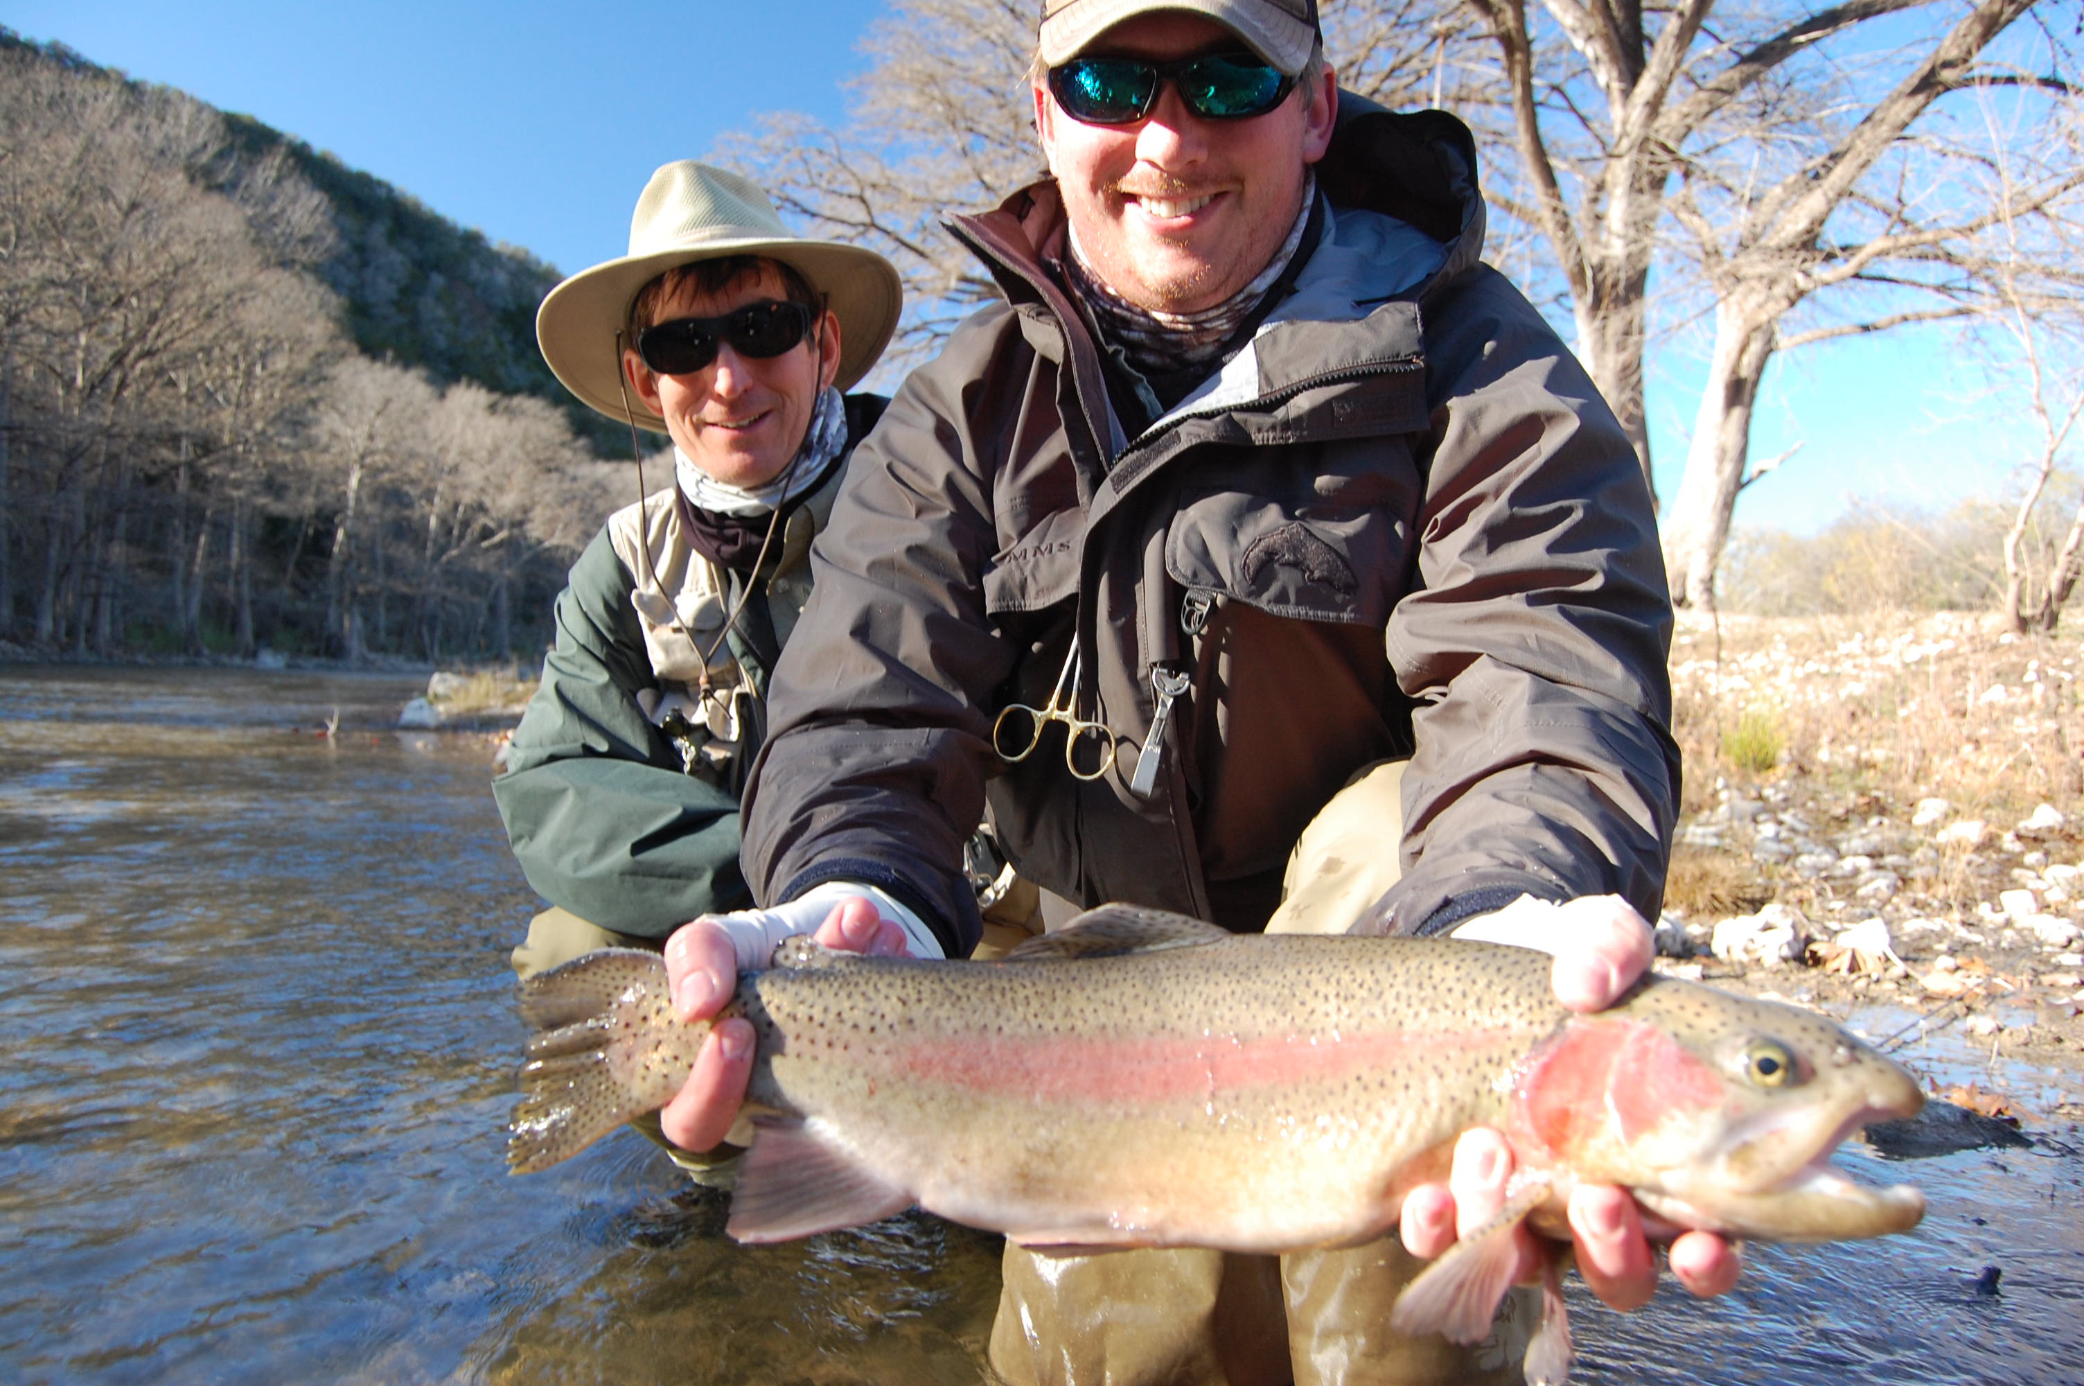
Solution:
{"label": "wooded hillside with bare trees along the far riverbank", "polygon": [[540,648],[629,486],[536,352],[554,281],[258,121],[0,29],[0,640]]}

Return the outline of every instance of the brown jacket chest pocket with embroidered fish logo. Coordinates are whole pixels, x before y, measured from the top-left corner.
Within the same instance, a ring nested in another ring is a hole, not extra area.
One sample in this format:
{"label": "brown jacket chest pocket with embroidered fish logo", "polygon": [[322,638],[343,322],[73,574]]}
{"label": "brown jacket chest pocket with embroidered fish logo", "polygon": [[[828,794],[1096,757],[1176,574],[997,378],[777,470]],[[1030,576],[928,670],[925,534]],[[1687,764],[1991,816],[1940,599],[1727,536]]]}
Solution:
{"label": "brown jacket chest pocket with embroidered fish logo", "polygon": [[1277,617],[1388,625],[1411,586],[1419,475],[1409,444],[1332,444],[1298,463],[1190,471],[1165,534],[1167,573]]}

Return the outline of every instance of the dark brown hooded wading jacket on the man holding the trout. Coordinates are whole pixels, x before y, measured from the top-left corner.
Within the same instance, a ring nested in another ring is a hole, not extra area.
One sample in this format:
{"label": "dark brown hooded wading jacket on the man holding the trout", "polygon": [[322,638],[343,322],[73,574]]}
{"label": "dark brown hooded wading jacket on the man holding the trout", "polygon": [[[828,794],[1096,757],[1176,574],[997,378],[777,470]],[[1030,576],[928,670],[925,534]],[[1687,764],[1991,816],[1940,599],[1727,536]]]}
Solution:
{"label": "dark brown hooded wading jacket on the man holding the trout", "polygon": [[[950,219],[1007,302],[904,381],[817,540],[746,798],[763,902],[873,882],[961,957],[990,800],[1046,890],[1263,927],[1309,819],[1411,754],[1405,875],[1363,927],[1519,892],[1655,917],[1680,765],[1636,456],[1478,261],[1459,121],[1346,96],[1317,181],[1330,213],[1286,298],[1150,423],[1044,265],[1055,185]],[[1073,640],[1077,715],[1117,744],[1092,782],[1061,729],[1017,765],[992,750],[998,709],[1042,707]],[[1155,679],[1180,673],[1140,796]]]}

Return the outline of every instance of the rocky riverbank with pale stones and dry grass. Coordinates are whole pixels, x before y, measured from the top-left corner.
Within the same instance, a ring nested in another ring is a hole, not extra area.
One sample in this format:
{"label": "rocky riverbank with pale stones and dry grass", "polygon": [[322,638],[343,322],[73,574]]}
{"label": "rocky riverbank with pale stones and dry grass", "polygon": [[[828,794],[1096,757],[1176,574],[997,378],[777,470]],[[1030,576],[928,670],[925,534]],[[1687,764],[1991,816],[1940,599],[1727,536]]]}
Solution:
{"label": "rocky riverbank with pale stones and dry grass", "polygon": [[1959,1025],[2080,1075],[2084,1115],[2080,667],[1971,615],[1688,615],[1659,965]]}

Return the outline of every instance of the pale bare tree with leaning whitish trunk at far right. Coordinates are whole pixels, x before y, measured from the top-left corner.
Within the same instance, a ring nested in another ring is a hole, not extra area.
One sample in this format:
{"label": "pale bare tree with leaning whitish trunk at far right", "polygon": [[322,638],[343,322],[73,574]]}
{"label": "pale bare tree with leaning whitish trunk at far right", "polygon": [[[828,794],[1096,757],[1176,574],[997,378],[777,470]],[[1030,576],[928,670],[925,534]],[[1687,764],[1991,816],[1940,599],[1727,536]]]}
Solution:
{"label": "pale bare tree with leaning whitish trunk at far right", "polygon": [[[2017,125],[1980,123],[1988,138],[1969,138],[1976,121],[1955,131],[1936,115],[1957,92],[1969,102],[1992,90],[2067,100],[2059,75],[1988,60],[2030,8],[2032,0],[1955,4],[1944,31],[1896,54],[1907,63],[1892,81],[1865,75],[1867,94],[1855,96],[1851,119],[1817,121],[1778,150],[1755,146],[1748,171],[1688,160],[1671,204],[1713,290],[1715,342],[1686,473],[1663,525],[1678,600],[1715,600],[1751,417],[1778,350],[1959,317],[1994,290],[2001,265],[1980,250],[1990,227],[2076,215],[2084,173],[2074,163],[2017,165]],[[1978,177],[2007,163],[2007,177]],[[2051,263],[2042,273],[2074,269]],[[1844,321],[1786,333],[1788,315],[1819,296]]]}

